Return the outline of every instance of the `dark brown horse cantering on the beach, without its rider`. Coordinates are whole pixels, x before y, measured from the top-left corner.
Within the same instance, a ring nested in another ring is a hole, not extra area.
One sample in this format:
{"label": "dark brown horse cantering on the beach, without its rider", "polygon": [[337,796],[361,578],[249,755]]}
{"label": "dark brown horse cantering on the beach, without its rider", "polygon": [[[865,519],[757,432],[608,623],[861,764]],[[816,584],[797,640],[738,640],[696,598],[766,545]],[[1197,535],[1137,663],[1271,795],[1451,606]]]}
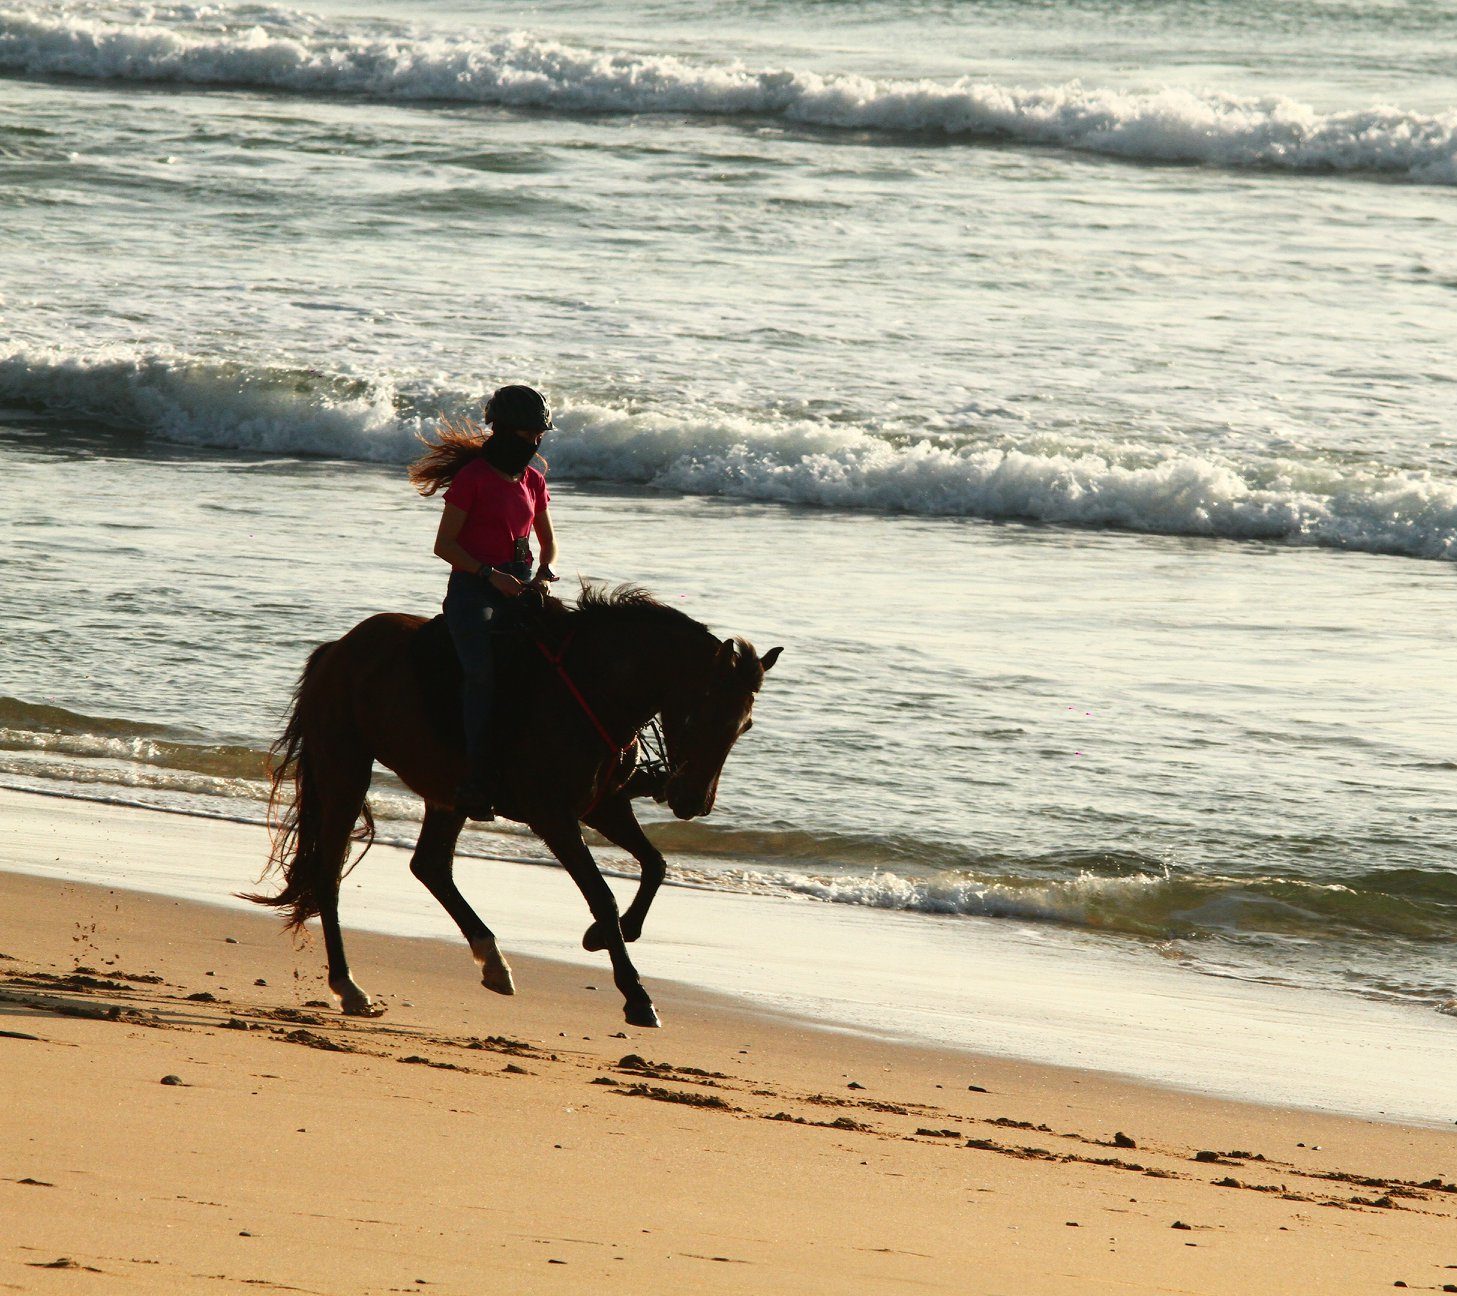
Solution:
{"label": "dark brown horse cantering on the beach, without its rider", "polygon": [[[728,752],[753,723],[755,695],[781,649],[761,657],[745,639],[720,640],[635,586],[584,585],[574,608],[549,596],[522,598],[533,599],[535,611],[522,618],[525,633],[501,636],[497,653],[497,813],[527,825],[571,875],[592,913],[583,946],[608,950],[628,1023],[657,1026],[627,946],[643,934],[667,866],[638,824],[632,797],[664,800],[679,819],[710,813]],[[654,719],[666,758],[666,770],[657,771],[634,760],[637,735]],[[367,792],[376,761],[425,803],[409,870],[460,929],[481,984],[516,993],[494,933],[453,878],[465,824],[453,800],[465,760],[459,665],[443,618],[383,612],[309,656],[270,752],[272,848],[264,878],[281,873],[283,889],[242,898],[283,910],[296,933],[319,918],[329,990],[347,1015],[385,1010],[350,974],[339,932],[351,843],[369,850],[374,838]],[[583,841],[581,824],[641,866],[625,913]]]}

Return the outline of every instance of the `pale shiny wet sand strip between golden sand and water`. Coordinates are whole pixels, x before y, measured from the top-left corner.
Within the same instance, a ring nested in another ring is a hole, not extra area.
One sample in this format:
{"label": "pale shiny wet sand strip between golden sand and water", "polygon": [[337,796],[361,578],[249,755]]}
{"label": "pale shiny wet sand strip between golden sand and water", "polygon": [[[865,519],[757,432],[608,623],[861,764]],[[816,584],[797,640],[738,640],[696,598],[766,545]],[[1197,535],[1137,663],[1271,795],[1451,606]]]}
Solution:
{"label": "pale shiny wet sand strip between golden sand and water", "polygon": [[[258,876],[259,825],[0,789],[0,867],[259,911],[232,897]],[[631,879],[609,879],[619,892]],[[507,958],[606,977],[581,950],[586,907],[561,870],[469,856],[460,885]],[[345,929],[436,937],[465,980],[453,924],[377,844],[345,879]],[[286,937],[278,934],[286,943]],[[1045,926],[935,918],[699,888],[664,888],[634,946],[672,1028],[683,987],[864,1039],[1101,1071],[1174,1092],[1445,1128],[1457,1022],[1329,991],[1212,977],[1147,950]],[[322,967],[322,953],[319,955]],[[826,969],[833,969],[826,977]],[[370,993],[390,987],[367,964]]]}

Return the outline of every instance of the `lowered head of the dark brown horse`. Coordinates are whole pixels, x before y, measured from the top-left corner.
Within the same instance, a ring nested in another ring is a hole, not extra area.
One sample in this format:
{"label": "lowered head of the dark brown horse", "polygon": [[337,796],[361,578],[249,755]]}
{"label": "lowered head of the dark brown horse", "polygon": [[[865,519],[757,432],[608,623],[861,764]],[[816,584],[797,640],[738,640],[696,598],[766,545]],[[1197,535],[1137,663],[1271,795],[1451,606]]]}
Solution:
{"label": "lowered head of the dark brown horse", "polygon": [[753,723],[753,695],[779,652],[769,649],[761,657],[745,640],[726,639],[702,678],[663,708],[663,742],[672,770],[663,799],[679,819],[712,811],[724,761]]}

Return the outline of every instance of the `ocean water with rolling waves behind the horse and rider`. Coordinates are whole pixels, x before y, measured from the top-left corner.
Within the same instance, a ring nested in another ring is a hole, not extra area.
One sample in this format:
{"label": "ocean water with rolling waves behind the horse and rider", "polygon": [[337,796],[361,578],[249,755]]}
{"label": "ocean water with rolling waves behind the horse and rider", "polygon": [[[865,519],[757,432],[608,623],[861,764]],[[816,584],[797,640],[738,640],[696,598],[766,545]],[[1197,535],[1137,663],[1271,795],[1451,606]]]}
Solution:
{"label": "ocean water with rolling waves behind the horse and rider", "polygon": [[785,644],[676,878],[1453,1012],[1454,39],[0,0],[0,784],[259,818],[532,382],[565,570]]}

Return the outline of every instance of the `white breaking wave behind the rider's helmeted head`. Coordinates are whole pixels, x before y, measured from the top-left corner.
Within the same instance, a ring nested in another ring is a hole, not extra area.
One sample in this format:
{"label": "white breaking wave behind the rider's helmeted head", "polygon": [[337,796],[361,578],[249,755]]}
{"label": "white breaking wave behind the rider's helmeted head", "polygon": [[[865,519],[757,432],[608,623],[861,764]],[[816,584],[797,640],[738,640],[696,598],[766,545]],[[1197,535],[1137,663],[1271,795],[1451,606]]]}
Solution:
{"label": "white breaking wave behind the rider's helmeted head", "polygon": [[[170,442],[254,453],[408,462],[436,411],[482,394],[186,357],[0,356],[0,401]],[[966,429],[871,429],[702,410],[667,415],[559,399],[557,478],[632,483],[883,513],[986,518],[1164,535],[1284,541],[1457,560],[1457,481],[1336,459],[1236,459],[1211,449],[1036,449]]]}

